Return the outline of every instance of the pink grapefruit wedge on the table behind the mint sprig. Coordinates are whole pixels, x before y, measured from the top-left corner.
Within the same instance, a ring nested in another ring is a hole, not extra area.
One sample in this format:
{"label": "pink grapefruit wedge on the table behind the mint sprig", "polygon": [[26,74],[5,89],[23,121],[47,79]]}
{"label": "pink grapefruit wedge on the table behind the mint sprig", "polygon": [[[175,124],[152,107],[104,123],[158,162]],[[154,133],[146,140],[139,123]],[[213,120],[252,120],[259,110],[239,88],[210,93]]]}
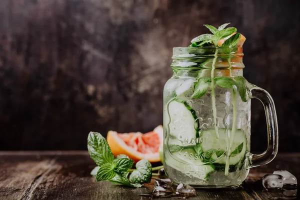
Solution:
{"label": "pink grapefruit wedge on the table behind the mint sprig", "polygon": [[162,139],[162,125],[147,133],[118,133],[112,130],[107,133],[107,142],[113,155],[125,154],[134,162],[141,159],[147,159],[150,162],[160,161],[159,149],[162,151]]}

